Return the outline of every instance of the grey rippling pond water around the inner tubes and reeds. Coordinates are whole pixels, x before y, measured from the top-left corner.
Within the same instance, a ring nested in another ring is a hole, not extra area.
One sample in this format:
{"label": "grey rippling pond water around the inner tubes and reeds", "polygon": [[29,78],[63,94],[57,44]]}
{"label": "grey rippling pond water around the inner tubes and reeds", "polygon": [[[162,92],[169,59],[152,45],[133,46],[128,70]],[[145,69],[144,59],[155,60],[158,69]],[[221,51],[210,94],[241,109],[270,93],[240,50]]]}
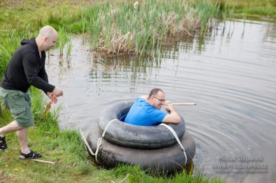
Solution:
{"label": "grey rippling pond water around the inner tubes and reeds", "polygon": [[167,100],[197,103],[175,107],[195,139],[196,169],[227,182],[275,182],[276,19],[234,19],[166,42],[159,56],[100,58],[81,36],[68,59],[52,50],[46,69],[65,94],[61,128],[87,134],[112,103],[160,87]]}

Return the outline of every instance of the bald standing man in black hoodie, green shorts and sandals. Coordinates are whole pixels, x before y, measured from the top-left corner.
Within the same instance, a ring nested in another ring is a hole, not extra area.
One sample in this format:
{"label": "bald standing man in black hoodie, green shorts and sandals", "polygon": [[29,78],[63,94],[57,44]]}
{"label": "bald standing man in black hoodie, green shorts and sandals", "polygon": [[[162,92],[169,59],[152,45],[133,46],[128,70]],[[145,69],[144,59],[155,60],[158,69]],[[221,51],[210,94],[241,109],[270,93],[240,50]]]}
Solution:
{"label": "bald standing man in black hoodie, green shorts and sandals", "polygon": [[21,148],[20,159],[41,158],[39,153],[28,147],[28,127],[34,125],[31,110],[30,86],[41,89],[53,103],[63,93],[61,89],[48,83],[45,70],[45,51],[57,43],[57,31],[49,25],[41,28],[36,39],[23,39],[21,47],[14,52],[0,87],[0,96],[14,118],[14,121],[0,128],[0,151],[8,148],[6,133],[17,131]]}

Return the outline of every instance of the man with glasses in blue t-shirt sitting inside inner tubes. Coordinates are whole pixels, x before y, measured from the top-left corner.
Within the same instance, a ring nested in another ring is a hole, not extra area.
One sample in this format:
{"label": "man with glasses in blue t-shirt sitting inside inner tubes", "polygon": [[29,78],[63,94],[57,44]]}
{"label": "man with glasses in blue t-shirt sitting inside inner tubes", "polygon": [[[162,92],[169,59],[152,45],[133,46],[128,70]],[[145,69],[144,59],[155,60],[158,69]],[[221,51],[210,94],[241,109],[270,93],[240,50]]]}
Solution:
{"label": "man with glasses in blue t-shirt sitting inside inner tubes", "polygon": [[[140,126],[155,126],[160,125],[161,122],[180,122],[181,118],[172,104],[165,102],[165,93],[159,88],[152,89],[148,96],[141,96],[135,100],[125,122]],[[165,105],[170,114],[160,111],[162,105]]]}

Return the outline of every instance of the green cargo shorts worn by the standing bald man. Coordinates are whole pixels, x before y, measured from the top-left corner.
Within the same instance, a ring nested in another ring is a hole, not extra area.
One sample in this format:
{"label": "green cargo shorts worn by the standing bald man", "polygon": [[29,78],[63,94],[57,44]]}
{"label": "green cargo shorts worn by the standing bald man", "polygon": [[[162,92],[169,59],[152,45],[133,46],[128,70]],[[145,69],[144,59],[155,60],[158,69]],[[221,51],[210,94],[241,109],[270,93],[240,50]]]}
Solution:
{"label": "green cargo shorts worn by the standing bald man", "polygon": [[19,90],[3,89],[0,87],[0,96],[20,127],[28,128],[34,125],[30,92],[24,93]]}

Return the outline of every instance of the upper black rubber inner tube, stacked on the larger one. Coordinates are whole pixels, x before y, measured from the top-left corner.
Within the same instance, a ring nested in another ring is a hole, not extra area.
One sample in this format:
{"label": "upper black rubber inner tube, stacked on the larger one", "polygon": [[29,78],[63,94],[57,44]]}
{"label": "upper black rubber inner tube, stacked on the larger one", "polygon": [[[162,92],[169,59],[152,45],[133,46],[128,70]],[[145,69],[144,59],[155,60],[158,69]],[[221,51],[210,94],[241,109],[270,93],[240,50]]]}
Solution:
{"label": "upper black rubber inner tube, stacked on the larger one", "polygon": [[[116,103],[106,109],[99,117],[99,129],[103,133],[106,125],[114,120],[106,129],[104,138],[114,144],[134,149],[161,149],[170,147],[177,140],[172,133],[164,126],[137,126],[120,121],[128,114],[133,101]],[[185,133],[185,121],[181,117],[178,124],[168,124],[175,130],[179,139]]]}

